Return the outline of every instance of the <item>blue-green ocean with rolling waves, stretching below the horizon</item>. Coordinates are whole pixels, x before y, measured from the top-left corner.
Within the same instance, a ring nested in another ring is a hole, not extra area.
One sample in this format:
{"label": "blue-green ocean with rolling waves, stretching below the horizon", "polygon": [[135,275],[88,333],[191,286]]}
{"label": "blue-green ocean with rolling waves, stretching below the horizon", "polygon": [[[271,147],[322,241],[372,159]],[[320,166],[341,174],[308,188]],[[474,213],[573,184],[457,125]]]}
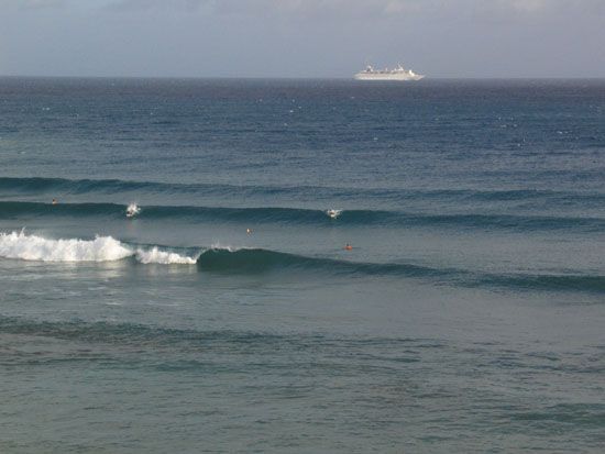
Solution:
{"label": "blue-green ocean with rolling waves, stretching below the horizon", "polygon": [[604,253],[604,80],[0,78],[0,452],[603,452]]}

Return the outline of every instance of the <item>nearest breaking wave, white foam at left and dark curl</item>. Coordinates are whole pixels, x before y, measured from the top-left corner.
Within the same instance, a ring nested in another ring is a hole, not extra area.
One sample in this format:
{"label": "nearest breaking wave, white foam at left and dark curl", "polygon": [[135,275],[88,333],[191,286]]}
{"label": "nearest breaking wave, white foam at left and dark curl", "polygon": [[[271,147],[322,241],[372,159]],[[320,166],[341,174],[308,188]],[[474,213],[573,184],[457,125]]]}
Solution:
{"label": "nearest breaking wave, white foam at left and dark curl", "polygon": [[257,275],[268,273],[321,276],[392,276],[429,279],[433,284],[518,290],[605,292],[605,276],[571,274],[494,274],[406,263],[351,262],[310,257],[264,248],[197,248],[188,255],[162,246],[134,246],[111,236],[94,240],[48,240],[22,232],[0,233],[0,257],[40,262],[113,262],[197,265],[206,273]]}

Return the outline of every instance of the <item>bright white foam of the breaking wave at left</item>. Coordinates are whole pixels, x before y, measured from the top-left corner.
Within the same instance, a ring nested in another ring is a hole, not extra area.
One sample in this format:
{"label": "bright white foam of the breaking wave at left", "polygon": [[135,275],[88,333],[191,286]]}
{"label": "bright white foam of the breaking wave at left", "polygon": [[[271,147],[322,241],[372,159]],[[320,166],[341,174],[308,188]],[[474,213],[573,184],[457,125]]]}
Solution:
{"label": "bright white foam of the breaking wave at left", "polygon": [[143,264],[187,264],[197,257],[161,251],[157,246],[146,251],[133,250],[111,236],[95,240],[48,240],[25,232],[0,233],[0,257],[40,262],[112,262],[132,257]]}

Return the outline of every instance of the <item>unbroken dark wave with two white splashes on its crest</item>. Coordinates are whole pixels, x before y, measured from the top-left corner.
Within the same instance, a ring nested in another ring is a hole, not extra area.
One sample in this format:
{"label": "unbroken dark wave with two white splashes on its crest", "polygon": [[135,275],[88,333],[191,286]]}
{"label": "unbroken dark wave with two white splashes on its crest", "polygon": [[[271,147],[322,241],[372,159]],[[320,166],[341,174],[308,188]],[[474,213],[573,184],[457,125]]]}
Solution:
{"label": "unbroken dark wave with two white splashes on its crest", "polygon": [[[40,203],[0,202],[0,219],[18,217],[108,217],[124,218],[130,207],[117,203]],[[581,217],[538,217],[514,214],[425,214],[388,210],[312,210],[299,208],[260,207],[136,207],[138,219],[193,222],[220,221],[238,223],[287,223],[309,225],[375,225],[375,226],[455,226],[465,229],[505,229],[519,231],[582,230],[603,231],[605,219]],[[337,211],[338,215],[331,215]]]}

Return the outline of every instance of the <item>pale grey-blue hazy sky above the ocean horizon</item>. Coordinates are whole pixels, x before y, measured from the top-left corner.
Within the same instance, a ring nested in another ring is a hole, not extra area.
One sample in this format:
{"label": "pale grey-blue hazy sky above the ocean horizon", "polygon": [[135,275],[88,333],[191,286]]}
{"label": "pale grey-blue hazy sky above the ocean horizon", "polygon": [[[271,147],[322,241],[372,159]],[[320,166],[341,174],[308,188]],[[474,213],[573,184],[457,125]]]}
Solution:
{"label": "pale grey-blue hazy sky above the ocean horizon", "polygon": [[0,75],[605,77],[605,0],[0,0]]}

